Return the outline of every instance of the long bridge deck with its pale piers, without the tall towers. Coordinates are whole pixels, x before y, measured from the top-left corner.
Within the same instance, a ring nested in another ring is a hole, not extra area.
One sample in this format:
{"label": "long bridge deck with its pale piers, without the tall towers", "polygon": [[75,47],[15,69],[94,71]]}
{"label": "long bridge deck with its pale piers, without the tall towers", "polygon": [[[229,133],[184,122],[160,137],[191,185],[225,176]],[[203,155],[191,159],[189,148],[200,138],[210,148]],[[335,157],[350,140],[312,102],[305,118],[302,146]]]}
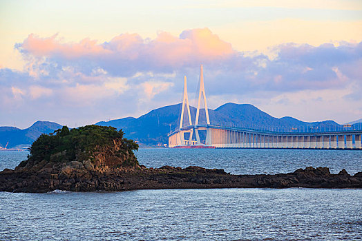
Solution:
{"label": "long bridge deck with its pale piers, without the tall towers", "polygon": [[362,130],[273,132],[220,125],[189,125],[177,129],[169,134],[169,147],[194,145],[193,140],[184,139],[184,133],[195,129],[207,131],[204,144],[220,148],[362,149]]}

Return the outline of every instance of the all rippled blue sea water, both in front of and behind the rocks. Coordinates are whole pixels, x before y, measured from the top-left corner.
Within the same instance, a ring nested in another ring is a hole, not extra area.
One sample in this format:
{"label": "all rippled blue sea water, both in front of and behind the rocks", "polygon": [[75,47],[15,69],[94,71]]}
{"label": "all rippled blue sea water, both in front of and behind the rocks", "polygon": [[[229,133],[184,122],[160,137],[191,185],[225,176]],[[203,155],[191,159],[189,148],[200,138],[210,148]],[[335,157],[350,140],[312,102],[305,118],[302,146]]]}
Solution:
{"label": "all rippled blue sea water, both in front of and behind the rocks", "polygon": [[[0,151],[0,170],[26,151]],[[362,171],[362,151],[140,149],[147,167],[198,165],[232,174],[307,166]],[[0,192],[0,240],[359,240],[361,189],[171,189]]]}

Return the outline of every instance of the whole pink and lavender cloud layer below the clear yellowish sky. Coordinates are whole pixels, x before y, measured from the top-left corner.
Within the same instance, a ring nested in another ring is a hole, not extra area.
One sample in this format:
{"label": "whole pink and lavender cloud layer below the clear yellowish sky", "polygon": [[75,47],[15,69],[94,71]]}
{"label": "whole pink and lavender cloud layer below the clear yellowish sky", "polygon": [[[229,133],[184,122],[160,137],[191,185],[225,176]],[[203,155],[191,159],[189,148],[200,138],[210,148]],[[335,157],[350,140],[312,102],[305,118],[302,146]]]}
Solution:
{"label": "whole pink and lavender cloud layer below the clear yellowish sky", "polygon": [[[15,48],[27,64],[23,72],[0,69],[0,101],[5,103],[0,110],[9,119],[10,112],[20,115],[29,105],[32,116],[76,118],[83,123],[137,116],[180,102],[185,74],[192,104],[200,63],[211,107],[234,101],[268,108],[283,105],[285,112],[288,108],[292,112],[294,105],[310,105],[308,93],[315,99],[323,93],[320,105],[338,96],[341,103],[350,101],[362,109],[362,43],[284,43],[272,47],[273,54],[267,56],[238,52],[202,28],[184,30],[179,36],[158,32],[155,39],[126,33],[104,43],[91,39],[70,43],[57,34],[46,38],[29,34]],[[296,103],[299,98],[304,102]],[[348,108],[352,106],[343,110],[345,118],[356,113]],[[330,107],[328,111],[332,112]]]}

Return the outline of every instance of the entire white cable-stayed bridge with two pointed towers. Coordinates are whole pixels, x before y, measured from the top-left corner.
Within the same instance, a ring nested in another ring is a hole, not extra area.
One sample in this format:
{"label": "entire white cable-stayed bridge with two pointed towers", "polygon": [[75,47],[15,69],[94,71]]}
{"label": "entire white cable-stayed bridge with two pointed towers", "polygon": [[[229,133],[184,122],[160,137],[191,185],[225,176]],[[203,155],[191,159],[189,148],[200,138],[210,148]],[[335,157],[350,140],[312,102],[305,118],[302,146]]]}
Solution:
{"label": "entire white cable-stayed bridge with two pointed towers", "polygon": [[[201,100],[202,99],[202,100]],[[200,105],[204,104],[204,109]],[[201,111],[202,110],[202,111]],[[200,112],[205,115],[203,123]],[[186,119],[186,121],[184,120]],[[184,94],[180,125],[169,133],[169,147],[181,148],[295,148],[295,149],[362,149],[362,125],[343,127],[258,127],[210,123],[204,90],[203,67],[200,66],[200,90],[194,123],[184,76]]]}

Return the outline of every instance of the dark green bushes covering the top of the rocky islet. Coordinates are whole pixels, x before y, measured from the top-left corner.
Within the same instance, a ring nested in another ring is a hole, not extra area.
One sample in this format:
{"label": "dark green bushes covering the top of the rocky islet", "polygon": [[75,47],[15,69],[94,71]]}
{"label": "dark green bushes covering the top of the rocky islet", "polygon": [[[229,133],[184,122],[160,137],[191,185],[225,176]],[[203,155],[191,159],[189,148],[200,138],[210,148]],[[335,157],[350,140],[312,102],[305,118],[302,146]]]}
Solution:
{"label": "dark green bushes covering the top of the rocky islet", "polygon": [[[117,143],[117,144],[116,144]],[[117,132],[114,127],[99,125],[86,125],[69,130],[64,126],[53,134],[41,134],[32,143],[28,160],[31,163],[38,163],[42,160],[48,162],[71,161],[71,160],[93,160],[95,151],[102,147],[120,145],[115,153],[118,157],[124,157],[125,163],[131,165],[137,162],[133,150],[138,149],[137,143],[124,138],[122,129]],[[21,163],[25,166],[26,163]]]}

